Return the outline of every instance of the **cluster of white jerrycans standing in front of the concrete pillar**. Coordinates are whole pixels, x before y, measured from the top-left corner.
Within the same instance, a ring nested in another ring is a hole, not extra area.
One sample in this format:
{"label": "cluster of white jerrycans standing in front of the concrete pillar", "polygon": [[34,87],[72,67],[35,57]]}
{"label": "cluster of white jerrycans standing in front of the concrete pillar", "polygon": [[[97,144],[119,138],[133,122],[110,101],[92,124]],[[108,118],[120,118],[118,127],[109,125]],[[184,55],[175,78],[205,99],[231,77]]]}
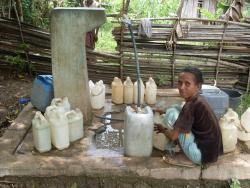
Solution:
{"label": "cluster of white jerrycans standing in front of the concrete pillar", "polygon": [[70,110],[67,97],[54,98],[44,116],[37,112],[32,120],[35,148],[39,152],[49,151],[49,143],[58,150],[63,150],[69,147],[70,142],[83,137],[82,112],[79,109]]}

